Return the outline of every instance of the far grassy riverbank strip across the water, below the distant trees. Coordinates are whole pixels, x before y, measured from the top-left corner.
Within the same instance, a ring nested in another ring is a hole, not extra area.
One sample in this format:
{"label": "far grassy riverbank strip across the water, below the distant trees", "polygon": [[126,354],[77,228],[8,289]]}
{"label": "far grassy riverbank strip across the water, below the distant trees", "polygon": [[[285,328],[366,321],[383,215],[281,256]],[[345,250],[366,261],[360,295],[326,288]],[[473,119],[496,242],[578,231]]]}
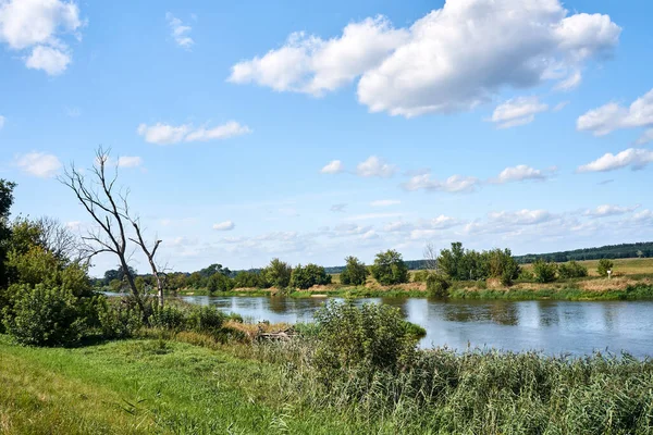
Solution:
{"label": "far grassy riverbank strip across the water, below the distant trees", "polygon": [[[188,289],[180,296],[209,296],[206,289]],[[424,298],[429,294],[424,283],[399,286],[315,286],[307,290],[276,288],[237,288],[217,291],[210,296],[283,296],[291,298]],[[485,282],[455,283],[448,289],[449,299],[508,299],[508,300],[649,300],[653,299],[653,279],[650,277],[616,277],[568,279],[550,284],[517,283],[510,287],[488,286]]]}

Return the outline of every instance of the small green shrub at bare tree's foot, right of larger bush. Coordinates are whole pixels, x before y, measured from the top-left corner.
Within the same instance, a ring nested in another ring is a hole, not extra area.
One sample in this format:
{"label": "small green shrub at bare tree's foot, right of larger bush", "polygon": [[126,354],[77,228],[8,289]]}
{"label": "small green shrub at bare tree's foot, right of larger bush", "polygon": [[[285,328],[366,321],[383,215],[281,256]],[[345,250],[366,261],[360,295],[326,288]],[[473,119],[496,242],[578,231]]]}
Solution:
{"label": "small green shrub at bare tree's foot, right of larger bush", "polygon": [[97,314],[104,338],[130,338],[143,326],[140,311],[126,299],[113,301],[103,298],[97,304]]}

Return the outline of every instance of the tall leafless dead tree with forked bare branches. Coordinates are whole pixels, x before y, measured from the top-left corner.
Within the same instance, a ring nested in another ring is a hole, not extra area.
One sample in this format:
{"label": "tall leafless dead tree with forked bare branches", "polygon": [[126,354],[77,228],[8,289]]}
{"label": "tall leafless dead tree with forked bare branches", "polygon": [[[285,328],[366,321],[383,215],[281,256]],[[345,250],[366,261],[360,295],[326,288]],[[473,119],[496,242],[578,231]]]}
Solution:
{"label": "tall leafless dead tree with forked bare branches", "polygon": [[[151,248],[145,243],[137,217],[131,217],[127,203],[128,190],[121,190],[115,187],[118,181],[118,165],[112,175],[107,174],[109,162],[109,151],[99,147],[96,151],[96,163],[89,170],[90,179],[86,179],[85,173],[74,163],[65,169],[64,175],[60,182],[67,186],[88,214],[97,224],[86,236],[82,237],[88,261],[95,256],[103,252],[118,256],[120,266],[125,273],[125,278],[134,295],[138,306],[145,311],[143,295],[140,295],[134,273],[128,266],[130,260],[137,248],[140,248],[148,258],[152,274],[156,277],[158,286],[159,303],[163,306],[163,285],[160,278],[160,272],[155,261],[157,250],[161,240],[157,240]],[[130,233],[134,228],[135,235]],[[132,244],[135,244],[132,246]]]}

